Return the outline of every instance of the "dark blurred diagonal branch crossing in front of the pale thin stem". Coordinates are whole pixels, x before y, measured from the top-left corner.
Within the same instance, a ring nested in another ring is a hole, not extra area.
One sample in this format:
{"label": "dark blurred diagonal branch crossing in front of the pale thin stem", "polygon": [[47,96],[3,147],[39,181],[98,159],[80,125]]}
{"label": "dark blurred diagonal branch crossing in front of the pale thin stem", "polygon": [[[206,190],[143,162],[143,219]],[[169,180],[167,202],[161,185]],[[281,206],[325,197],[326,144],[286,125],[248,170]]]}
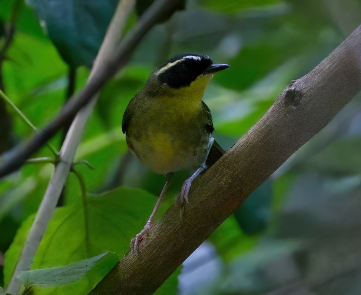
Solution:
{"label": "dark blurred diagonal branch crossing in front of the pale thin stem", "polygon": [[29,142],[17,146],[7,155],[6,160],[0,165],[0,177],[19,168],[27,158],[42,147],[55,133],[72,120],[78,111],[88,103],[92,96],[99,91],[105,82],[128,61],[132,50],[142,37],[156,23],[164,21],[175,10],[181,7],[183,0],[158,0],[155,1],[142,15],[136,27],[127,34],[114,52],[114,58],[97,72],[91,82],[83,89],[76,99],[70,100],[60,111],[58,116],[42,132],[35,135]]}

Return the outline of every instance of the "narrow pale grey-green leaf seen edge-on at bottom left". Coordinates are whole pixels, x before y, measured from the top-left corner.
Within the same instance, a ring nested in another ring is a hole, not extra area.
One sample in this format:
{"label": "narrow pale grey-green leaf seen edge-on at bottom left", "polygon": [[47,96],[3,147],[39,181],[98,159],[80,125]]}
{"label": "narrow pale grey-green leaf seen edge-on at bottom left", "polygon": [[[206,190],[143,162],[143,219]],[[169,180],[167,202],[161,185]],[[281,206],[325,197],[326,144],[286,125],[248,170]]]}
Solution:
{"label": "narrow pale grey-green leaf seen edge-on at bottom left", "polygon": [[22,271],[16,277],[23,282],[25,289],[33,285],[49,287],[74,282],[84,276],[95,262],[106,254],[108,252],[60,267]]}

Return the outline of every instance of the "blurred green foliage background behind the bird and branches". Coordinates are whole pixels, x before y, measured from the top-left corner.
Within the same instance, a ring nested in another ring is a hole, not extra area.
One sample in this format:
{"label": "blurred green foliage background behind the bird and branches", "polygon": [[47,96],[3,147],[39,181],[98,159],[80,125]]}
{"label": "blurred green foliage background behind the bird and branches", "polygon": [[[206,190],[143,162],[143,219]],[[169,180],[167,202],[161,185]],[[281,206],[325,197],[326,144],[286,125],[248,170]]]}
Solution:
{"label": "blurred green foliage background behind the bird and branches", "polygon": [[[41,128],[65,101],[69,67],[78,67],[75,92],[86,83],[87,67],[117,1],[68,0],[57,6],[59,1],[27,0],[14,11],[16,1],[0,0],[0,52],[16,15],[13,39],[0,56],[0,81],[10,99]],[[137,1],[138,14],[149,3]],[[360,16],[359,0],[189,0],[185,10],[154,27],[127,67],[101,91],[87,123],[75,161],[85,159],[95,168],[76,168],[90,194],[82,202],[79,181],[69,176],[65,206],[55,211],[31,268],[66,265],[105,251],[112,255],[79,281],[34,287],[34,294],[86,294],[129,250],[130,239],[147,221],[164,177],[127,154],[121,120],[156,66],[186,52],[231,65],[214,77],[204,95],[215,137],[227,149],[262,117],[290,80],[312,70],[347,36],[349,27],[356,28]],[[135,22],[136,12],[127,28]],[[221,261],[215,279],[187,289],[178,283],[178,269],[157,294],[360,294],[361,270],[355,263],[361,259],[360,111],[355,98],[209,237]],[[10,115],[16,142],[32,135],[16,114]],[[60,147],[61,135],[51,141]],[[52,154],[45,146],[36,156]],[[26,165],[0,182],[2,287],[9,282],[52,171],[51,164]],[[159,215],[189,173],[176,173]],[[91,194],[110,189],[115,190]],[[201,277],[193,272],[194,278]]]}

